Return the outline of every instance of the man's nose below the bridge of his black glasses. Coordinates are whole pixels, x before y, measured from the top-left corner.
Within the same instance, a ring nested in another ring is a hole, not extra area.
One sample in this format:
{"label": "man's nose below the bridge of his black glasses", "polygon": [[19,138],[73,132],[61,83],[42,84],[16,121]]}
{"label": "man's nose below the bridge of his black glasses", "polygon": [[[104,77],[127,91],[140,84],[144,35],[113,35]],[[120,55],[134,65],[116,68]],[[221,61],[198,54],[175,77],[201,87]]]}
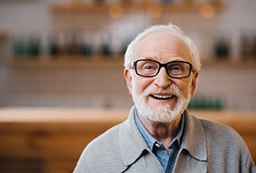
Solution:
{"label": "man's nose below the bridge of his black glasses", "polygon": [[155,76],[155,85],[165,88],[171,85],[171,77],[166,73],[165,67],[160,68],[159,73]]}

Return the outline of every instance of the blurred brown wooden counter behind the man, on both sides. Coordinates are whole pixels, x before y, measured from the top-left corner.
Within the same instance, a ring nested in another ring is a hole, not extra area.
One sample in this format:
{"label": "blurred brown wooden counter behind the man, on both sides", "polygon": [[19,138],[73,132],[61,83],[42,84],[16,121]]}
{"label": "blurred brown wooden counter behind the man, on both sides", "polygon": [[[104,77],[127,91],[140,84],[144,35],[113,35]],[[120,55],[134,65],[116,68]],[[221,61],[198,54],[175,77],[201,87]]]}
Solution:
{"label": "blurred brown wooden counter behind the man, on both sides", "polygon": [[[129,110],[0,108],[0,172],[72,172],[82,149]],[[190,111],[236,129],[256,160],[256,112]]]}

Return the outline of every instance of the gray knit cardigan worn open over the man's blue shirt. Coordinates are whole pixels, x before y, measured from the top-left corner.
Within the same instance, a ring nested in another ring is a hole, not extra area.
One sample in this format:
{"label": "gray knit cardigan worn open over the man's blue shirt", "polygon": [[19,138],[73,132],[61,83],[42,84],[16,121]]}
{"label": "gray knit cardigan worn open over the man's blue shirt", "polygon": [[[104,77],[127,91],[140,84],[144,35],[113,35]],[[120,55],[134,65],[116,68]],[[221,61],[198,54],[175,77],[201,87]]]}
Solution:
{"label": "gray knit cardigan worn open over the man's blue shirt", "polygon": [[[162,173],[163,168],[128,119],[95,138],[84,149],[74,173]],[[251,154],[232,128],[185,112],[185,128],[174,172],[256,172]]]}

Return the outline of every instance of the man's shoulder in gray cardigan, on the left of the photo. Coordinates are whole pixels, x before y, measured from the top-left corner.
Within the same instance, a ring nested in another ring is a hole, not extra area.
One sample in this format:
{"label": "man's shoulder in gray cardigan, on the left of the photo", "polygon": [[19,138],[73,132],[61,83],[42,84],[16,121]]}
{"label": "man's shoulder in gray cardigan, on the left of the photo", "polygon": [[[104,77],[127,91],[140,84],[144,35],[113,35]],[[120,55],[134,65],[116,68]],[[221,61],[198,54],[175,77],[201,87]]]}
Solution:
{"label": "man's shoulder in gray cardigan, on the left of the photo", "polygon": [[118,124],[94,138],[84,148],[75,172],[122,172],[122,152],[119,148],[120,127]]}

